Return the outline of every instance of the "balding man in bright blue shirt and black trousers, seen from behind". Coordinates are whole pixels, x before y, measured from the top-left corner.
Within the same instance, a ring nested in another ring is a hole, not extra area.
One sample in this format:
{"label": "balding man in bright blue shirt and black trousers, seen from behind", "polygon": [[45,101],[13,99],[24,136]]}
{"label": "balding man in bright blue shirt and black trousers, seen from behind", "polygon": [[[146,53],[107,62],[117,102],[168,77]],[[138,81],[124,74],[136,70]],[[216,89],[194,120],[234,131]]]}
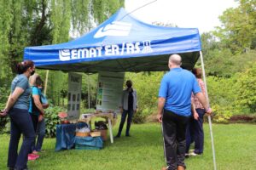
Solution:
{"label": "balding man in bright blue shirt and black trousers, seen from behind", "polygon": [[162,122],[164,136],[167,167],[163,169],[168,170],[182,170],[186,167],[185,132],[191,115],[191,94],[195,94],[208,114],[212,113],[195,76],[180,67],[181,60],[178,54],[170,56],[170,71],[162,78],[159,90],[157,118]]}

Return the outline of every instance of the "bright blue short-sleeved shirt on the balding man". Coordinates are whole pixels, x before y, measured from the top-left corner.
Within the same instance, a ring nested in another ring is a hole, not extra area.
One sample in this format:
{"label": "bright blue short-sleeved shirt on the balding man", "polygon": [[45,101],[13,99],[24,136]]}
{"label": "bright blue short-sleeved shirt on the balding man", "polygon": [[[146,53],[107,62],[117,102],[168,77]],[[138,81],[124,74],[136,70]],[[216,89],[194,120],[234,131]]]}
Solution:
{"label": "bright blue short-sleeved shirt on the balding man", "polygon": [[159,97],[166,99],[165,110],[180,116],[190,116],[192,92],[201,92],[195,76],[190,71],[174,68],[162,78]]}

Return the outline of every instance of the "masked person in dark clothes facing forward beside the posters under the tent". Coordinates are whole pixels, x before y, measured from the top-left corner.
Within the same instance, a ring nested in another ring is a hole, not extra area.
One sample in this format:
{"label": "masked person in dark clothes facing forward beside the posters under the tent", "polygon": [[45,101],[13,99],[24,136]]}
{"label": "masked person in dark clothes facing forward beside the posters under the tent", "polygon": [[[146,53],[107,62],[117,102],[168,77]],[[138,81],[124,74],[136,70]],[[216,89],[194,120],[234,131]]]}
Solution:
{"label": "masked person in dark clothes facing forward beside the posters under the tent", "polygon": [[132,120],[133,113],[137,112],[137,92],[135,89],[132,88],[131,80],[126,81],[126,86],[127,88],[123,91],[123,95],[122,95],[122,101],[120,106],[122,117],[119,125],[119,132],[115,136],[116,138],[119,138],[121,136],[122,129],[124,127],[125,119],[127,115],[128,115],[128,118],[127,118],[125,136],[131,137],[130,135],[131,120]]}

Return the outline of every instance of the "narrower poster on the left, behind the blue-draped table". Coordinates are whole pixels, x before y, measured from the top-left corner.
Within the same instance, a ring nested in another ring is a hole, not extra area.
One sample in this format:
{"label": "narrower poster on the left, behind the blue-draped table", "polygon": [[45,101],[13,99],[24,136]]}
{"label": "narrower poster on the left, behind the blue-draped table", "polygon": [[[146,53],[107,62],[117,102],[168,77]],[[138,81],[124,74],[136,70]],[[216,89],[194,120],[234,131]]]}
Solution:
{"label": "narrower poster on the left, behind the blue-draped table", "polygon": [[68,73],[67,118],[69,120],[79,119],[81,86],[82,75],[73,72]]}

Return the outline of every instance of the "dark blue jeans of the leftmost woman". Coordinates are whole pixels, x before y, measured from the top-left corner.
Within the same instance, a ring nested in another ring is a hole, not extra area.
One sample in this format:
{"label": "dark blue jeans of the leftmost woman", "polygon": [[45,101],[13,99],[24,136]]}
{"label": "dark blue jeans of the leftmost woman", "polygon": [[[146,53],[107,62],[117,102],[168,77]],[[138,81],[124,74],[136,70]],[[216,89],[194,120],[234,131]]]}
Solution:
{"label": "dark blue jeans of the leftmost woman", "polygon": [[[20,170],[26,168],[27,156],[35,139],[35,131],[31,116],[27,110],[13,108],[9,111],[10,140],[8,153],[8,167]],[[18,154],[20,135],[23,134],[23,143]]]}

